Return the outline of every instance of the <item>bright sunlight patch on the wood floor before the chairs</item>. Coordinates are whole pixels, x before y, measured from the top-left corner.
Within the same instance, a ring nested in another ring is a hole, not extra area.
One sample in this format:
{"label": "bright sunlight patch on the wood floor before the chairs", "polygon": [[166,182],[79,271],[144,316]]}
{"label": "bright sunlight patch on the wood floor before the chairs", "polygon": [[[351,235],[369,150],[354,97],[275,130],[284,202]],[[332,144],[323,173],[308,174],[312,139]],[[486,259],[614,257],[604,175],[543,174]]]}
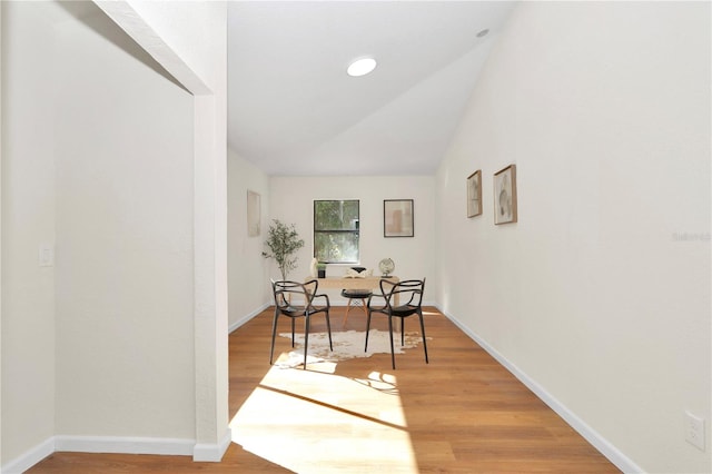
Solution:
{"label": "bright sunlight patch on the wood floor before the chairs", "polygon": [[233,441],[300,473],[416,473],[395,376],[319,365],[271,367],[233,418]]}

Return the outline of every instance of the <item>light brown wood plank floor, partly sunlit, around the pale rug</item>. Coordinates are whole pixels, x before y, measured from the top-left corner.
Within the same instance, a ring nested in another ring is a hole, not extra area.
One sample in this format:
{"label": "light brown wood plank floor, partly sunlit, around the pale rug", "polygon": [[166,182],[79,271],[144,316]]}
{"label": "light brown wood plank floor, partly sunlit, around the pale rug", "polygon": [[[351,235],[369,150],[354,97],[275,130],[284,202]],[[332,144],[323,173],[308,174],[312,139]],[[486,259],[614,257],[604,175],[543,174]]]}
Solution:
{"label": "light brown wood plank floor, partly sunlit, around the pale rug", "polygon": [[[343,315],[332,310],[333,330],[344,330]],[[221,463],[55,453],[28,472],[620,472],[434,308],[425,316],[429,364],[418,345],[396,354],[396,371],[389,354],[270,367],[270,327],[268,309],[229,337],[234,443]],[[352,310],[345,329],[364,327],[363,312]],[[387,329],[384,319],[372,327]],[[283,319],[279,332],[288,328]],[[417,329],[408,318],[406,332]],[[312,330],[325,330],[323,316]],[[277,339],[276,356],[291,350]]]}

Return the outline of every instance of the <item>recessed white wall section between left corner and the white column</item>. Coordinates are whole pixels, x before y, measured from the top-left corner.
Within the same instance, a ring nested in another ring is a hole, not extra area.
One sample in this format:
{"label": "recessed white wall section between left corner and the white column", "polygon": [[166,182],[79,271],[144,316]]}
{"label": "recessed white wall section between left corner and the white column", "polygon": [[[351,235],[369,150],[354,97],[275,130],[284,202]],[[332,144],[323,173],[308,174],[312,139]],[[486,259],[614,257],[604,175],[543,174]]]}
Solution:
{"label": "recessed white wall section between left corner and the white column", "polygon": [[85,22],[53,38],[57,432],[195,440],[192,97]]}

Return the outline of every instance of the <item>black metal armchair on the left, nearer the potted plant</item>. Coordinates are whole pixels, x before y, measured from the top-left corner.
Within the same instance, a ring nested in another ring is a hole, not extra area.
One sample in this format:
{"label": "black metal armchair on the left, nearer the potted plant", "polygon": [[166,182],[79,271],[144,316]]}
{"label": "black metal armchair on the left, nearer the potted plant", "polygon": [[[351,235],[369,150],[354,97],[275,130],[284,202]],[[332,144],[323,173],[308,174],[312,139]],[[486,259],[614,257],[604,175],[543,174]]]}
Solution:
{"label": "black metal armchair on the left, nearer the potted plant", "polygon": [[[304,368],[307,368],[307,348],[309,346],[309,318],[317,313],[326,315],[326,328],[329,335],[329,349],[332,345],[332,323],[329,322],[328,295],[318,295],[316,292],[319,283],[316,279],[305,284],[298,282],[275,282],[271,280],[271,289],[275,296],[275,318],[271,326],[271,348],[269,352],[269,365],[271,365],[275,354],[275,336],[277,335],[277,318],[279,315],[291,318],[291,347],[294,347],[294,324],[298,317],[304,317]],[[317,298],[324,298],[324,305],[316,305]],[[293,302],[296,302],[293,304]]]}

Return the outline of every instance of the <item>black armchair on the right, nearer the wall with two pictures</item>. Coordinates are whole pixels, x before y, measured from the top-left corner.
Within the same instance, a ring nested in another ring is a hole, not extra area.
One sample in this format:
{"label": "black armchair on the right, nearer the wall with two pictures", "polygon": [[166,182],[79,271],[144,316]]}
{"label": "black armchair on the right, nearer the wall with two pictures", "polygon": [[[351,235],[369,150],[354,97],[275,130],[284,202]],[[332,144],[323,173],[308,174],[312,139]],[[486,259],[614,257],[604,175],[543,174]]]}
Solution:
{"label": "black armchair on the right, nearer the wall with two pictures", "polygon": [[[374,294],[368,298],[367,308],[368,317],[366,319],[366,345],[364,350],[368,349],[368,329],[370,328],[370,315],[373,313],[382,313],[388,316],[388,333],[390,334],[390,362],[393,368],[396,368],[396,356],[393,346],[393,318],[400,318],[400,346],[405,344],[405,318],[418,315],[421,318],[421,335],[423,336],[423,349],[425,350],[425,363],[427,359],[427,344],[425,343],[425,324],[423,322],[423,292],[425,290],[425,278],[408,279],[399,283],[393,283],[387,279],[380,280],[380,295]],[[380,299],[384,304],[380,305]],[[397,303],[396,303],[397,302]]]}

